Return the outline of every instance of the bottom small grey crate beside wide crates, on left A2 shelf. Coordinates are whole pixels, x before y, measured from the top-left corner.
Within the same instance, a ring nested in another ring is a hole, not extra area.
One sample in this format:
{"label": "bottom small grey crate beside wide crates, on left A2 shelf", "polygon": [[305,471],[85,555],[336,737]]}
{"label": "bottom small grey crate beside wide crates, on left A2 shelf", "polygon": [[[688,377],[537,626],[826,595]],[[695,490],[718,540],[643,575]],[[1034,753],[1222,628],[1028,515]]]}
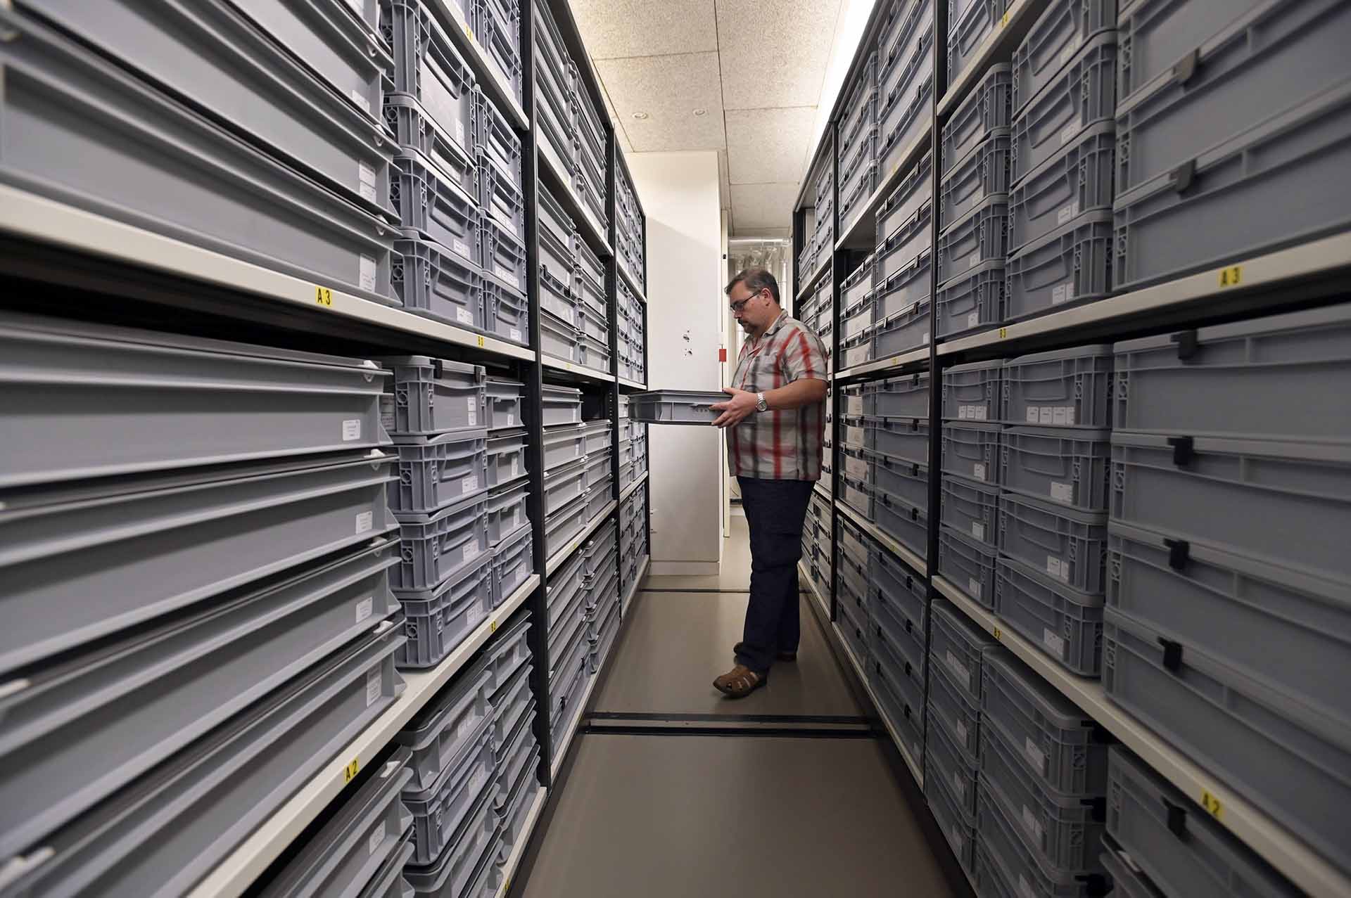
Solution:
{"label": "bottom small grey crate beside wide crates, on left A2 shelf", "polygon": [[462,643],[493,609],[492,552],[457,567],[439,586],[397,590],[404,606],[404,635],[399,667],[435,667]]}

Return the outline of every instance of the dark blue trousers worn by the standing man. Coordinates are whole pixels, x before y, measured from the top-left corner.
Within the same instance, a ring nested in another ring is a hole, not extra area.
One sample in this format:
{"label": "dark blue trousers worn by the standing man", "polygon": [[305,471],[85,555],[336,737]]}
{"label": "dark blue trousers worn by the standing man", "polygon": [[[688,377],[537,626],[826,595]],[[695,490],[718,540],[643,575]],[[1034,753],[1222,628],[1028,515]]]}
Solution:
{"label": "dark blue trousers worn by the standing man", "polygon": [[751,598],[736,663],[769,671],[778,652],[796,652],[801,636],[797,562],[802,558],[802,521],[813,481],[738,477],[751,532]]}

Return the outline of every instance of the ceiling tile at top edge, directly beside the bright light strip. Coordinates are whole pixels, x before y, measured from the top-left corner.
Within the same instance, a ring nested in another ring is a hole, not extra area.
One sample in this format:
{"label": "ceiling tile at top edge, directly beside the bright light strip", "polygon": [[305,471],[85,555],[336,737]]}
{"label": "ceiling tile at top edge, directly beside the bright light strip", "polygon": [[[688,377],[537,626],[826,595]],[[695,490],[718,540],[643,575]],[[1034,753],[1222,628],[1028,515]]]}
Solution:
{"label": "ceiling tile at top edge, directly beside the bright light strip", "polygon": [[816,105],[840,0],[717,0],[728,109]]}

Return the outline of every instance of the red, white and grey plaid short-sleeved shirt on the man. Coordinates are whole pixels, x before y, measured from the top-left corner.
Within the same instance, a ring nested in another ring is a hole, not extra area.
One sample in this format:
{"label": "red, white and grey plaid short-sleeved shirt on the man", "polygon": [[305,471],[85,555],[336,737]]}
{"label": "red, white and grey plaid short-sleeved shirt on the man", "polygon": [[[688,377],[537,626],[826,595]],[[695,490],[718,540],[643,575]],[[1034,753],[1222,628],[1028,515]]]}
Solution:
{"label": "red, white and grey plaid short-sleeved shirt on the man", "polygon": [[[761,393],[802,378],[828,378],[825,346],[784,312],[759,339],[742,344],[731,386]],[[753,413],[727,435],[728,465],[735,477],[817,481],[824,435],[825,402]]]}

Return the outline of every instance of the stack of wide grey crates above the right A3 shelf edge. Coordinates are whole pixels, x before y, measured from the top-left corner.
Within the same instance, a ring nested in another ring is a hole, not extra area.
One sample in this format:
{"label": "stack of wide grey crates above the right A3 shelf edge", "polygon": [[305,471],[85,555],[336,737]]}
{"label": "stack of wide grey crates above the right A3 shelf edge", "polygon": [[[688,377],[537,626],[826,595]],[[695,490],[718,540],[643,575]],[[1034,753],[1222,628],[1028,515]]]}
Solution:
{"label": "stack of wide grey crates above the right A3 shelf edge", "polygon": [[1351,224],[1351,8],[1121,0],[1117,32],[1116,289]]}

